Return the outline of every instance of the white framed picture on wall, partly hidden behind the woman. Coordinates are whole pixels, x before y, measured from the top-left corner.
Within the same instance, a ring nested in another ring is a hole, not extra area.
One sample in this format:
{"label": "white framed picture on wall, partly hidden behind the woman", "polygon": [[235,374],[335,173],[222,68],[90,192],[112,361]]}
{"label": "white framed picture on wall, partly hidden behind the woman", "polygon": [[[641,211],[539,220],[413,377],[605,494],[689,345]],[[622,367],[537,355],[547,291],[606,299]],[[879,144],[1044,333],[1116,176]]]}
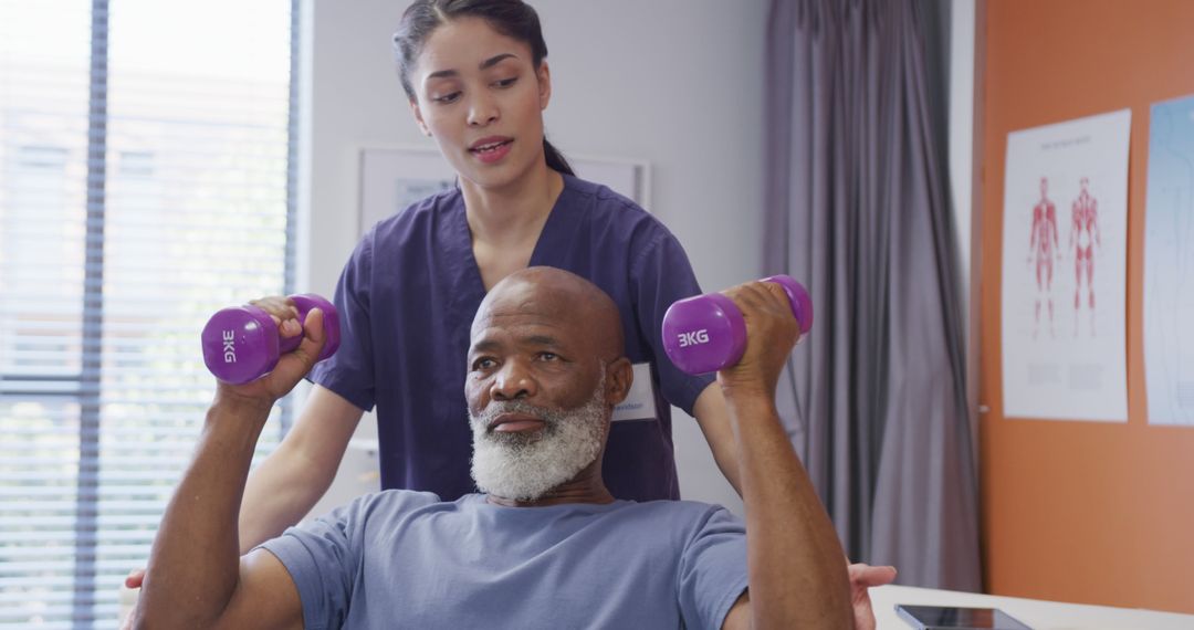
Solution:
{"label": "white framed picture on wall, partly hidden behind the woman", "polygon": [[[604,184],[644,208],[650,205],[651,171],[646,162],[565,155],[580,178]],[[359,234],[412,203],[456,185],[456,172],[438,150],[426,147],[364,147],[358,166]]]}

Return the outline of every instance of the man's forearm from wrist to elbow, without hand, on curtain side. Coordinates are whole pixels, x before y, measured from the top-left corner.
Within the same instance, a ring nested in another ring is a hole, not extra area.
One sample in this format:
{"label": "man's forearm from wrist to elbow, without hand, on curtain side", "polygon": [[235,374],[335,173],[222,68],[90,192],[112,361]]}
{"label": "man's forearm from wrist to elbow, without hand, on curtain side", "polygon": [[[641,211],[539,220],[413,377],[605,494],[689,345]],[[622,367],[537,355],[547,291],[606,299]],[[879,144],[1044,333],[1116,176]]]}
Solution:
{"label": "man's forearm from wrist to elbow, without hand, on curtain side", "polygon": [[746,512],[753,628],[851,628],[844,552],[773,400],[727,395]]}

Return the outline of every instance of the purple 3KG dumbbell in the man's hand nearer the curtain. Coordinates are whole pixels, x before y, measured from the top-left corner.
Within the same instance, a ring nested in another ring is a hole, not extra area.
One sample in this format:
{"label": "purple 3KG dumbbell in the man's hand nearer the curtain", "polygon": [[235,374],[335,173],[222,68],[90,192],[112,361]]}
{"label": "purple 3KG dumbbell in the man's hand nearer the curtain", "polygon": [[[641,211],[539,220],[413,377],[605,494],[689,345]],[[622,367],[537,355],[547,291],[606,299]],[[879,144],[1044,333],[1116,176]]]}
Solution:
{"label": "purple 3KG dumbbell in the man's hand nearer the curtain", "polygon": [[[808,291],[787,276],[771,276],[788,294],[792,314],[806,335],[813,326],[813,301]],[[746,351],[746,322],[733,299],[721,294],[681,299],[664,314],[664,352],[688,373],[715,372],[738,363]]]}

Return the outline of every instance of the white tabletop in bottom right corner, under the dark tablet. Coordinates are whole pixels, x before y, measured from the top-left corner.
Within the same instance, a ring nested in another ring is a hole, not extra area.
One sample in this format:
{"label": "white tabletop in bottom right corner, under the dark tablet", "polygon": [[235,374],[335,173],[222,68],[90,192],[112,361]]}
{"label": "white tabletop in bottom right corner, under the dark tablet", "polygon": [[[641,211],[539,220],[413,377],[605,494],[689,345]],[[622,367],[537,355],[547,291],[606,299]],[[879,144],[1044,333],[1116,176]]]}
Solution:
{"label": "white tabletop in bottom right corner, under the dark tablet", "polygon": [[1194,614],[1063,604],[911,586],[890,585],[872,588],[870,601],[875,609],[879,630],[910,628],[907,622],[896,614],[897,604],[1001,609],[1035,630],[1194,630]]}

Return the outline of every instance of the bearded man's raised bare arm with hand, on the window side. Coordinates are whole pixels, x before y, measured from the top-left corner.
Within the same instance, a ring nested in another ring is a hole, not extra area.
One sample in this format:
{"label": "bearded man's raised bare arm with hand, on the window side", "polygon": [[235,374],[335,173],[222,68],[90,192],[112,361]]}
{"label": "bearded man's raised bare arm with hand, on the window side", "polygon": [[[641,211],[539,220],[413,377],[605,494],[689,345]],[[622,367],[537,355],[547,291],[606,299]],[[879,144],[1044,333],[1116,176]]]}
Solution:
{"label": "bearded man's raised bare arm with hand, on the window side", "polygon": [[[297,334],[287,322],[283,333]],[[324,345],[322,314],[312,310],[297,350],[267,376],[219,384],[190,468],[166,507],[137,603],[136,628],[302,628],[298,591],[264,550],[239,554],[245,478],[273,402],[310,369]]]}

